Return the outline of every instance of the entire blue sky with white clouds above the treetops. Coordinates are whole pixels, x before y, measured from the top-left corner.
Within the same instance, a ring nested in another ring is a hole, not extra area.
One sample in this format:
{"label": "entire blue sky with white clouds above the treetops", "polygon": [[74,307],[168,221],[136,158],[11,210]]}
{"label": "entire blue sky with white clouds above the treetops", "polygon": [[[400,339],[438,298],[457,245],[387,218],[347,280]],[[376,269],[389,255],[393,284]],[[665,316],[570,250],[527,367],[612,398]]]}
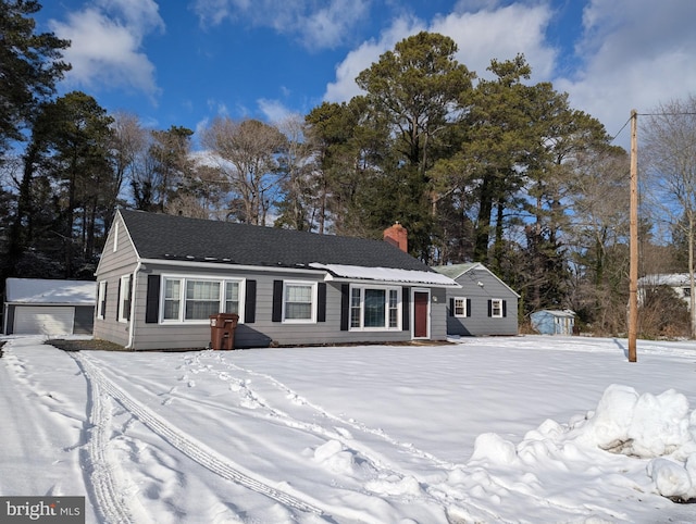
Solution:
{"label": "entire blue sky with white clouds above the treetops", "polygon": [[[194,130],[216,115],[278,122],[359,93],[356,75],[420,30],[485,76],[524,53],[574,109],[618,133],[696,92],[692,0],[41,0],[39,30],[73,45],[79,89],[145,125]],[[624,130],[617,141],[627,147]]]}

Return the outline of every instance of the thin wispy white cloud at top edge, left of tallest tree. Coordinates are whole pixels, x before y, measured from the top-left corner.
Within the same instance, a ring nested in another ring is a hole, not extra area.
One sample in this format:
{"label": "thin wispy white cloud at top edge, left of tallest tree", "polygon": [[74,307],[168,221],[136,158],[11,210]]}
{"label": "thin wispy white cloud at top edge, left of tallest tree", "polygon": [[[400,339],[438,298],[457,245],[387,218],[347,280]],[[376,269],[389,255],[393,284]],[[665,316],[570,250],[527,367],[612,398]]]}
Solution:
{"label": "thin wispy white cloud at top edge, left of tallest tree", "polygon": [[368,16],[371,0],[196,0],[194,10],[202,24],[225,20],[250,22],[291,35],[310,50],[334,48]]}

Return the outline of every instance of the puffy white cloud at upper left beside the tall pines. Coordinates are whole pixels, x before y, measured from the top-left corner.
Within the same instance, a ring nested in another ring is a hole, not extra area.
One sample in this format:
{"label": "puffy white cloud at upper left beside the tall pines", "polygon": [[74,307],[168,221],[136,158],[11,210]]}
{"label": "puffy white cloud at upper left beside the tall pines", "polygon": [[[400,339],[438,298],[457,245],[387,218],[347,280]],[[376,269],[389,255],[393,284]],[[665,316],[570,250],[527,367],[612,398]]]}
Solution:
{"label": "puffy white cloud at upper left beside the tall pines", "polygon": [[60,38],[71,40],[64,58],[73,68],[69,85],[96,88],[126,88],[148,95],[159,92],[154,65],[141,52],[142,38],[163,29],[158,5],[152,0],[100,0],[75,11],[66,22],[51,21]]}

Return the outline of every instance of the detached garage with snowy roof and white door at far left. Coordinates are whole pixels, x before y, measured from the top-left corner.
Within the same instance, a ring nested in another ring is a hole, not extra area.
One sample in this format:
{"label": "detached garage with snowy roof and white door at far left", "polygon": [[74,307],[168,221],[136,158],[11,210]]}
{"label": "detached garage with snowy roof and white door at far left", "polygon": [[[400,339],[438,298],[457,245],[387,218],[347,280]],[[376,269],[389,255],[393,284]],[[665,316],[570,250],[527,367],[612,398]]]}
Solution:
{"label": "detached garage with snowy roof and white door at far left", "polygon": [[8,278],[4,334],[91,335],[97,285],[85,280]]}

